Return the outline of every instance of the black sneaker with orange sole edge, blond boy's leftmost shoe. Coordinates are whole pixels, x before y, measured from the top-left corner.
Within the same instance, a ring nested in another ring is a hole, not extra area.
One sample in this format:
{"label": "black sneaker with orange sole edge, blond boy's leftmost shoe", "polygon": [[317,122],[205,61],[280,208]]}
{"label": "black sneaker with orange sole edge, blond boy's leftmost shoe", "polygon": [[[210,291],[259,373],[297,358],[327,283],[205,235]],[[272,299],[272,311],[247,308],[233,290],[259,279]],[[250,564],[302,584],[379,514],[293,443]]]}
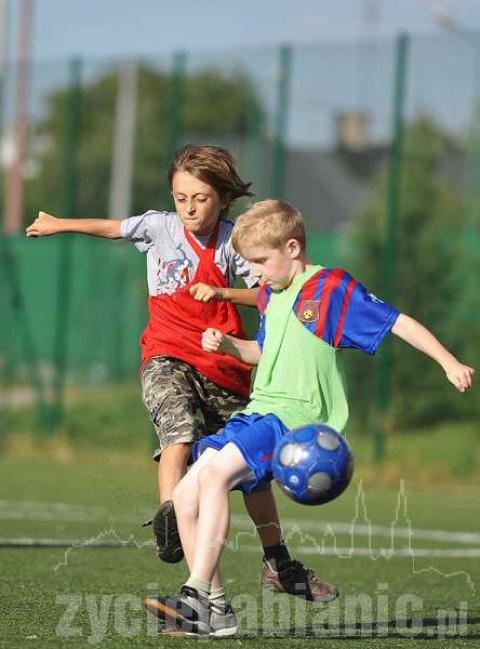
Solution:
{"label": "black sneaker with orange sole edge, blond boy's leftmost shoe", "polygon": [[165,620],[162,633],[172,635],[210,635],[210,602],[195,588],[182,586],[174,597],[147,597],[144,606]]}

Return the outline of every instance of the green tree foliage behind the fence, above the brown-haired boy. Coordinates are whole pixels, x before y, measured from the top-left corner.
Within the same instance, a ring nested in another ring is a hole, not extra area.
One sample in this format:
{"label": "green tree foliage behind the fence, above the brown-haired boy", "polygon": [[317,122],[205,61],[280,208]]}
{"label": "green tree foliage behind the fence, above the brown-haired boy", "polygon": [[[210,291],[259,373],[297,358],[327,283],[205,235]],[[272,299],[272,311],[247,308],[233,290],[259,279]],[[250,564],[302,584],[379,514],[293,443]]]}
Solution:
{"label": "green tree foliage behind the fence, above the brown-haired boy", "polygon": [[[81,89],[76,157],[79,216],[107,214],[117,82],[117,75],[109,72]],[[172,120],[183,133],[179,134],[180,145],[186,134],[202,140],[226,135],[235,138],[248,129],[252,114],[260,123],[263,119],[253,84],[241,71],[227,75],[206,69],[187,75],[181,93],[183,105],[179,106],[172,106],[174,79],[169,74],[143,66],[137,84],[133,213],[156,207],[167,197]],[[68,93],[68,89],[59,88],[47,96],[45,116],[34,128],[34,138],[42,145],[36,147],[39,172],[27,185],[27,221],[39,208],[58,214],[64,210],[61,179]]]}

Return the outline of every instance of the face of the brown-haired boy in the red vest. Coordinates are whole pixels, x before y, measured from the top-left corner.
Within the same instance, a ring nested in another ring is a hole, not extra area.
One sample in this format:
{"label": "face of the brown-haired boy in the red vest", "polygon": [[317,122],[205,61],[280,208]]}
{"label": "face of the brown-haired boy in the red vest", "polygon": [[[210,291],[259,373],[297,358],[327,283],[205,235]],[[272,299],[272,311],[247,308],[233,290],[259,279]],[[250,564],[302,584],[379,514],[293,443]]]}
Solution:
{"label": "face of the brown-haired boy in the red vest", "polygon": [[175,172],[172,195],[180,221],[193,234],[209,234],[226,207],[218,192],[188,171]]}

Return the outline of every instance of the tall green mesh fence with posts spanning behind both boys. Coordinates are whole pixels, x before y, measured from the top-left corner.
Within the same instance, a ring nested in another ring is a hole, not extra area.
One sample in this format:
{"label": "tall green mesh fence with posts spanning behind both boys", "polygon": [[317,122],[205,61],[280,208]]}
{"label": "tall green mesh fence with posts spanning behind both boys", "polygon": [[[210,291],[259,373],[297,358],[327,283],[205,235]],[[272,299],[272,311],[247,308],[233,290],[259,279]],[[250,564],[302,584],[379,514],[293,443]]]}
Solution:
{"label": "tall green mesh fence with posts spanning behind both boys", "polygon": [[[312,258],[346,265],[478,366],[479,60],[480,38],[457,33],[35,65],[22,223],[39,209],[115,218],[169,209],[175,149],[226,146],[257,198],[302,210]],[[4,79],[4,140],[18,113],[16,73],[10,66]],[[4,183],[4,205],[9,191]],[[44,381],[60,401],[65,381],[133,377],[146,279],[131,246],[18,233],[3,236],[1,260],[7,391]],[[474,391],[459,400],[439,387],[438,368],[398,343],[368,365],[351,359],[357,411],[375,405],[379,457],[392,421],[480,414]]]}

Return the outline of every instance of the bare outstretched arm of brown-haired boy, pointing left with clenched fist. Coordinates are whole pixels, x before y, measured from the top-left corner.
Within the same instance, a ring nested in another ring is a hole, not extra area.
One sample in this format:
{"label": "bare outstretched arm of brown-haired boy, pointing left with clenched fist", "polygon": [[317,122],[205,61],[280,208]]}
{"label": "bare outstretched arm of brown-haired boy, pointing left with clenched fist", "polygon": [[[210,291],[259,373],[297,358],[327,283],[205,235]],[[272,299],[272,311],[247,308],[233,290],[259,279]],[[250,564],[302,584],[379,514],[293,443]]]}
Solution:
{"label": "bare outstretched arm of brown-haired boy, pointing left with clenched fist", "polygon": [[61,232],[78,232],[105,239],[121,239],[121,220],[117,219],[59,219],[47,212],[39,212],[26,228],[27,237],[50,237]]}

